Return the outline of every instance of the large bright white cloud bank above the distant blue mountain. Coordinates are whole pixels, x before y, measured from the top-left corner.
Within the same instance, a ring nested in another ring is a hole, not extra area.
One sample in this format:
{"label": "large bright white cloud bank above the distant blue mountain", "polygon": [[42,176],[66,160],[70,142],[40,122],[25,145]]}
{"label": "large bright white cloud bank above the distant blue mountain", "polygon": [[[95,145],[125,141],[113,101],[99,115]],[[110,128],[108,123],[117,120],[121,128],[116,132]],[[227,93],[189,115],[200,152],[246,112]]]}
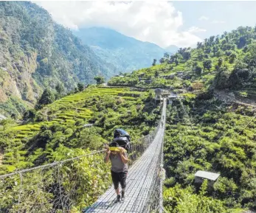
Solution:
{"label": "large bright white cloud bank above the distant blue mountain", "polygon": [[[70,29],[108,27],[141,41],[166,47],[201,41],[193,30],[179,32],[182,13],[168,1],[35,1]],[[197,28],[199,30],[199,28]],[[201,31],[202,32],[202,31]]]}

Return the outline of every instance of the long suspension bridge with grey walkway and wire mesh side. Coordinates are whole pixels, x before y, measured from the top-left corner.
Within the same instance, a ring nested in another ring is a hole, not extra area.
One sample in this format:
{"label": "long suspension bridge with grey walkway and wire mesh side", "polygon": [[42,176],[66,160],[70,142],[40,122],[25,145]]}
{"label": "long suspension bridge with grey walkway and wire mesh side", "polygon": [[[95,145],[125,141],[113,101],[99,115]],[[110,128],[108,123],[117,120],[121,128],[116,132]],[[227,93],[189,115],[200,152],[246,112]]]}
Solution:
{"label": "long suspension bridge with grey walkway and wire mesh side", "polygon": [[[166,99],[158,127],[139,139],[129,158],[134,161],[128,170],[125,200],[114,203],[116,194],[111,186],[86,209],[91,212],[159,212],[162,213],[163,141],[165,136]],[[73,212],[77,190],[86,189],[84,174],[77,164],[103,161],[105,150],[69,158],[27,170],[0,176],[0,212]],[[138,158],[139,157],[139,158]],[[91,168],[97,167],[97,164]],[[68,183],[68,187],[66,184]],[[79,183],[79,184],[77,184]],[[65,186],[67,188],[65,188]],[[96,189],[97,190],[97,189]],[[5,204],[1,203],[4,200]]]}

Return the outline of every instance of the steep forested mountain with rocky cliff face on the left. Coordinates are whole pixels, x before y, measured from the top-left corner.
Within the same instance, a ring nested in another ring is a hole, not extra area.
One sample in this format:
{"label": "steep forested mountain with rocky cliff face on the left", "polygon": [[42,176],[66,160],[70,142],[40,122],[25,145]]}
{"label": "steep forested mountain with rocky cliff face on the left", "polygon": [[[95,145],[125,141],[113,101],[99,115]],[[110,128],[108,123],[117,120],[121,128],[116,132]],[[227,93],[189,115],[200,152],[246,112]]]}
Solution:
{"label": "steep forested mountain with rocky cliff face on the left", "polygon": [[[35,104],[44,87],[93,83],[117,69],[52,21],[46,10],[27,1],[0,2],[1,112],[18,114]],[[20,100],[23,99],[24,102]]]}

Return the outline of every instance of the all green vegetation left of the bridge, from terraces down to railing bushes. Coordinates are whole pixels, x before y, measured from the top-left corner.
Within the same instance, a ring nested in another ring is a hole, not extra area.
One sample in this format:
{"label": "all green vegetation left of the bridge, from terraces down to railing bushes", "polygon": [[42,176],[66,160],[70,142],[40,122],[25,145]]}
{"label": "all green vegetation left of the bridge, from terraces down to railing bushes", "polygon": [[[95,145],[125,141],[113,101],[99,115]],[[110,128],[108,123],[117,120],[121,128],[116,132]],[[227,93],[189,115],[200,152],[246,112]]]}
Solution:
{"label": "all green vegetation left of the bridge, from terraces down to railing bushes", "polygon": [[[128,130],[136,143],[136,139],[156,127],[160,109],[154,105],[152,91],[92,85],[82,92],[44,105],[37,111],[27,111],[24,117],[27,118],[24,125],[11,120],[4,120],[6,122],[1,124],[4,127],[0,139],[0,150],[4,154],[0,165],[1,175],[101,150],[104,143],[112,140],[115,128]],[[93,126],[84,127],[88,123]],[[35,203],[34,206],[43,205],[42,212],[49,212],[52,205],[57,205],[58,200],[51,201],[52,196],[60,198],[60,195],[47,189],[56,188],[60,181],[58,172],[65,174],[61,193],[72,195],[72,211],[76,212],[93,203],[110,184],[109,165],[103,164],[103,154],[86,156],[58,168],[49,167],[23,175],[22,211],[29,212],[31,203]],[[12,203],[19,196],[19,176],[6,178],[0,186],[0,194],[4,195],[0,208],[15,212],[17,206]],[[74,186],[75,192],[72,191]],[[40,189],[40,193],[31,196],[30,193],[36,191],[33,191],[33,187]]]}

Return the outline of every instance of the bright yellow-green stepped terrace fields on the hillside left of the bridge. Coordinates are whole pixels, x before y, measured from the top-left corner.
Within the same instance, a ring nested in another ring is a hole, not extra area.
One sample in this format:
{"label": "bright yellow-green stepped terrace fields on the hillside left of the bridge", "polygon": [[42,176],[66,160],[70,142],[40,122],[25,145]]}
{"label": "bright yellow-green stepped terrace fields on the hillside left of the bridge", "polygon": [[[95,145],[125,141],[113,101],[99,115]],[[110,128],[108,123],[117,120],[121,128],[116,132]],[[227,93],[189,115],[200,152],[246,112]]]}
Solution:
{"label": "bright yellow-green stepped terrace fields on the hillside left of the bridge", "polygon": [[141,94],[142,92],[139,91],[130,91],[130,88],[87,88],[85,91],[63,97],[43,108],[41,112],[42,114],[47,114],[47,121],[17,125],[7,131],[14,131],[15,138],[13,142],[20,142],[22,139],[29,139],[34,136],[43,125],[53,125],[54,123],[74,125],[77,119],[83,119],[86,124],[94,114],[91,106],[85,106],[84,104],[87,98],[95,95],[112,95],[132,102],[136,101],[136,97],[139,97]]}

